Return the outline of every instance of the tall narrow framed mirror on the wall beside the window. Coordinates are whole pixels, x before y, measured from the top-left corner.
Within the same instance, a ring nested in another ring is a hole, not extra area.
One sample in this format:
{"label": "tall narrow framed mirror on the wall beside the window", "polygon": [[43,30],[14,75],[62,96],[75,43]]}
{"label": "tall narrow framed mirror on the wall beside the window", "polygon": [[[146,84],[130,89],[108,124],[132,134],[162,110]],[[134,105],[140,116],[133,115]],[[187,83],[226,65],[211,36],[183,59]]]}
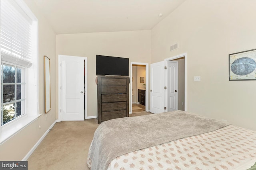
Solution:
{"label": "tall narrow framed mirror on the wall beside the window", "polygon": [[44,56],[44,111],[51,109],[50,59]]}

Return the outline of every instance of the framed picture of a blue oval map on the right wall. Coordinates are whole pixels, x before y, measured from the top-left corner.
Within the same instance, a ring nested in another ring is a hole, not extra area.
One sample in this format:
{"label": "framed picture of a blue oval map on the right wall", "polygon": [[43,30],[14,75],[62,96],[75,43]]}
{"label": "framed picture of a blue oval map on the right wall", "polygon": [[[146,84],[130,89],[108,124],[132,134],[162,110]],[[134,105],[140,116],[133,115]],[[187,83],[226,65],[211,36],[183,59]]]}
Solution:
{"label": "framed picture of a blue oval map on the right wall", "polygon": [[256,49],[228,56],[229,80],[256,80]]}

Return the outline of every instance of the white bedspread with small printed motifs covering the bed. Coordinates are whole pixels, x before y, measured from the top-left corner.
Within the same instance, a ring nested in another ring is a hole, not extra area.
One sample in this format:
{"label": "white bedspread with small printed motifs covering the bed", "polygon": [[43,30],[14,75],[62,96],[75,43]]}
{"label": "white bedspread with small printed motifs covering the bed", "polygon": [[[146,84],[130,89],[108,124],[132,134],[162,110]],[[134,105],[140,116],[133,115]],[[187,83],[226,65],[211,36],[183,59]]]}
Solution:
{"label": "white bedspread with small printed motifs covering the bed", "polygon": [[108,170],[246,170],[256,162],[256,132],[229,125],[116,157]]}

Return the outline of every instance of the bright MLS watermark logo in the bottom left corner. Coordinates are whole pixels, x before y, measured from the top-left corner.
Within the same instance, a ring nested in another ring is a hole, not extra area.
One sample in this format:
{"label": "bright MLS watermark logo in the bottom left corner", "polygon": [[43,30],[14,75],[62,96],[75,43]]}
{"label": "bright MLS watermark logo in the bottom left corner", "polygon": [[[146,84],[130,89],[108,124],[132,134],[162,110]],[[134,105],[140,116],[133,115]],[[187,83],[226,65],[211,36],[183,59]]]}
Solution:
{"label": "bright MLS watermark logo in the bottom left corner", "polygon": [[28,161],[0,161],[1,170],[28,170]]}

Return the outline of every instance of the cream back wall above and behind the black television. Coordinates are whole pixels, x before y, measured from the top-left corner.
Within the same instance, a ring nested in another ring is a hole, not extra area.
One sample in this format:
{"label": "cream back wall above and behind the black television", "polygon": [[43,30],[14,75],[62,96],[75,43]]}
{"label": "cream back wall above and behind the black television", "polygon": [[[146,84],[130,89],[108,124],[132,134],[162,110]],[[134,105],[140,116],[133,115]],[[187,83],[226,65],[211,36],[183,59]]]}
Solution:
{"label": "cream back wall above and behind the black television", "polygon": [[96,116],[96,55],[125,57],[129,58],[129,62],[150,63],[150,45],[150,30],[57,35],[56,56],[73,55],[88,58],[87,113],[88,116]]}

